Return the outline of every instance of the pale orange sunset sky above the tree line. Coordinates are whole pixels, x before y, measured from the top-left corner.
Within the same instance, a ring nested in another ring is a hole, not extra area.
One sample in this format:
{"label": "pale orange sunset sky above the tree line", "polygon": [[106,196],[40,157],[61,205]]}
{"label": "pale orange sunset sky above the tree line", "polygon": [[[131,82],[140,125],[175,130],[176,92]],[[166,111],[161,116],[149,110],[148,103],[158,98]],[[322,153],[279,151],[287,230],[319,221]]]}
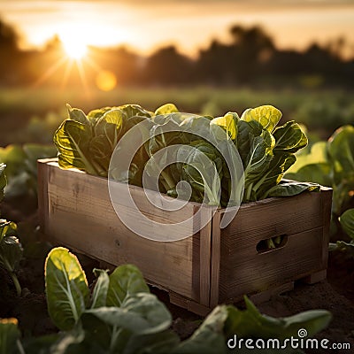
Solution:
{"label": "pale orange sunset sky above the tree line", "polygon": [[17,27],[23,47],[59,35],[72,46],[127,44],[147,53],[173,43],[193,55],[214,38],[227,42],[239,24],[264,27],[282,49],[342,35],[354,55],[350,0],[0,0],[0,17]]}

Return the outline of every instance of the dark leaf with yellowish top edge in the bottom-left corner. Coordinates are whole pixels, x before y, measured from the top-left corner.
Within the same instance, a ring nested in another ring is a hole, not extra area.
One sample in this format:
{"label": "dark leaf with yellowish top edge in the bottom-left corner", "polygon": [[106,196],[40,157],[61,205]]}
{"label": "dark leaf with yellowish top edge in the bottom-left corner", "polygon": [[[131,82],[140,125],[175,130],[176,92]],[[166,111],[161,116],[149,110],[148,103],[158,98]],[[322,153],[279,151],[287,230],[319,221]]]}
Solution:
{"label": "dark leaf with yellowish top edge in the bottom-left corner", "polygon": [[0,354],[19,354],[19,338],[17,319],[0,319]]}

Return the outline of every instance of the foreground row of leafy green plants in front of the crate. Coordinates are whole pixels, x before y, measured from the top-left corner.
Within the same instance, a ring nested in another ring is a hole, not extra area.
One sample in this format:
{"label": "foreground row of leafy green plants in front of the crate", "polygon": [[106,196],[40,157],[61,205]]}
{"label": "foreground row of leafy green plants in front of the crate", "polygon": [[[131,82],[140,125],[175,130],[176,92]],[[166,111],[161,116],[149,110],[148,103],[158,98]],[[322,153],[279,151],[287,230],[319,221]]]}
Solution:
{"label": "foreground row of leafy green plants in front of the crate", "polygon": [[[301,328],[306,328],[309,336],[315,335],[331,320],[325,310],[268,317],[245,297],[245,310],[219,305],[193,335],[181,341],[171,329],[171,313],[150,294],[135,266],[119,266],[112,273],[103,269],[94,272],[96,283],[90,291],[78,259],[65,248],[51,250],[45,262],[45,288],[50,318],[60,331],[21,338],[16,319],[1,319],[0,352],[222,354],[242,352],[227,346],[227,339],[235,335],[283,341],[299,338]],[[301,352],[289,347],[281,351]]]}

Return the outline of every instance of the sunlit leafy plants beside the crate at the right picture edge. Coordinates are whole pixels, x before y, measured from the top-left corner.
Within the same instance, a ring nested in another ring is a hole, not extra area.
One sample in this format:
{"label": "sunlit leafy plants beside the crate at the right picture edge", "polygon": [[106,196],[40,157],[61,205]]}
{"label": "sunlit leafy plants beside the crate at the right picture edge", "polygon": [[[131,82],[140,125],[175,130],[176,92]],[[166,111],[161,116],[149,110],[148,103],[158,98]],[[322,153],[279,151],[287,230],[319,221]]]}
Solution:
{"label": "sunlit leafy plants beside the crate at the right picture edge", "polygon": [[[287,178],[312,181],[333,189],[332,250],[354,255],[354,127],[338,128],[327,142],[316,142],[297,156]],[[341,234],[345,235],[341,235]]]}

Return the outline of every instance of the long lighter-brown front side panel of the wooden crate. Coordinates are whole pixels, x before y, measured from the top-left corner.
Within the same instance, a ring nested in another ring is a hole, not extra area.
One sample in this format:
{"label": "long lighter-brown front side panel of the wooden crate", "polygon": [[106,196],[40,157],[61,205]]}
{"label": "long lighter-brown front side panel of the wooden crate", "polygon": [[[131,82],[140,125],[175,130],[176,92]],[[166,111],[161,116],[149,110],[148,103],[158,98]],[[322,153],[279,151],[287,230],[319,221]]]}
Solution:
{"label": "long lighter-brown front side panel of the wooden crate", "polygon": [[114,212],[106,180],[56,165],[50,165],[48,198],[44,231],[55,241],[112,265],[135,264],[148,281],[199,301],[199,235],[179,242],[137,236]]}

